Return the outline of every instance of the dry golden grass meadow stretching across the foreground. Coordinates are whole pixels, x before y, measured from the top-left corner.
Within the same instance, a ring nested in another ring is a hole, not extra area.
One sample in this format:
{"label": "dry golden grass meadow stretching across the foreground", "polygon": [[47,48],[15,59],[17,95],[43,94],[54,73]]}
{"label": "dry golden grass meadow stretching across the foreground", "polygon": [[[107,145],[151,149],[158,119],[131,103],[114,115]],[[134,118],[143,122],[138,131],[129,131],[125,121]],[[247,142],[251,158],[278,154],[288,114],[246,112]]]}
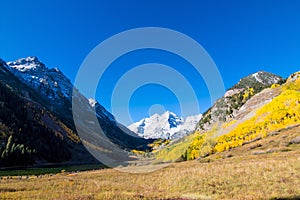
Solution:
{"label": "dry golden grass meadow stretching across the foreground", "polygon": [[[300,144],[283,130],[206,161],[173,163],[151,173],[115,169],[1,180],[1,199],[272,199],[300,198]],[[257,145],[260,143],[260,145]],[[251,146],[252,145],[252,146]],[[256,147],[257,146],[257,147]],[[288,148],[253,155],[253,151]],[[230,156],[226,156],[229,155]],[[205,160],[204,160],[205,161]],[[148,166],[149,167],[149,166]]]}

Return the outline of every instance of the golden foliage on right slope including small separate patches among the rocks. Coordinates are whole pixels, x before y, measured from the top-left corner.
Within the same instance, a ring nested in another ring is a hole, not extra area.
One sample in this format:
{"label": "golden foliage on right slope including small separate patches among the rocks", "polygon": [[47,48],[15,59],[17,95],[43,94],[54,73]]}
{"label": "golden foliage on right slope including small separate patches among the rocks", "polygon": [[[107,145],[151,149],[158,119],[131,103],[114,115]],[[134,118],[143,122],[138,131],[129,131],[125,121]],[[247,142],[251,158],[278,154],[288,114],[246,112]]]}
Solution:
{"label": "golden foliage on right slope including small separate patches among the rocks", "polygon": [[[207,137],[209,133],[196,136],[187,150],[187,160],[204,157],[215,152],[226,151],[256,138],[266,137],[269,132],[300,123],[300,76],[283,86],[273,84],[271,88],[281,87],[281,94],[256,111],[255,116],[238,124],[227,134]],[[248,88],[243,94],[243,100],[254,94],[253,88]],[[226,122],[222,128],[227,128],[236,120]],[[213,132],[213,131],[211,131]],[[211,134],[211,133],[210,133]],[[208,142],[209,141],[209,142]]]}

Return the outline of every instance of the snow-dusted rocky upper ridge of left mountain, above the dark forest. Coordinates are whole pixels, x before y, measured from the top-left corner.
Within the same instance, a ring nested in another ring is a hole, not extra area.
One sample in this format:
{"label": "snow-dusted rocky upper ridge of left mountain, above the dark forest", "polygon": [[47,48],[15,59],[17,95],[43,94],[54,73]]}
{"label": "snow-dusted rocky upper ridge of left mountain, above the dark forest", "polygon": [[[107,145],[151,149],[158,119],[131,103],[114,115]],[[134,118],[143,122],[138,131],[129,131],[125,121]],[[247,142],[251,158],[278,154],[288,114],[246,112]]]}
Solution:
{"label": "snow-dusted rocky upper ridge of left mountain, above the dark forest", "polygon": [[[114,143],[124,149],[148,148],[150,140],[138,137],[122,124],[118,123],[95,99],[88,99],[79,90],[74,88],[71,81],[58,69],[48,68],[37,57],[21,58],[3,64],[21,83],[33,90],[35,95],[30,96],[60,120],[76,131],[73,120],[72,101],[76,102],[78,116],[89,115],[95,112],[97,121],[82,118],[80,124],[87,134],[98,134],[91,124],[99,123],[103,133]],[[26,96],[26,95],[25,95]]]}

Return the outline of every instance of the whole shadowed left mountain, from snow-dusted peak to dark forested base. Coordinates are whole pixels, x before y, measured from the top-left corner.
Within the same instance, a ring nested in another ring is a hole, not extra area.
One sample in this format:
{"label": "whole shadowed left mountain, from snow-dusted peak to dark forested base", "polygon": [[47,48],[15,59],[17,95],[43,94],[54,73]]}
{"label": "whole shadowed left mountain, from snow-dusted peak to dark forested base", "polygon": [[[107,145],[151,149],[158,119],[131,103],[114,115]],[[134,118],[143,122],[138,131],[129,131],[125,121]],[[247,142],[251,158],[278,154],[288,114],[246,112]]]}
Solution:
{"label": "whole shadowed left mountain, from snow-dusted peak to dark forested base", "polygon": [[[0,60],[0,166],[98,162],[85,148],[94,147],[91,138],[99,135],[91,123],[99,123],[103,134],[121,149],[148,148],[151,140],[137,137],[97,101],[77,89],[74,94],[73,87],[58,68],[46,67],[37,57]],[[80,113],[96,112],[97,122],[81,122],[90,136],[86,140],[78,136],[72,98],[80,102]],[[23,154],[30,159],[19,159]]]}

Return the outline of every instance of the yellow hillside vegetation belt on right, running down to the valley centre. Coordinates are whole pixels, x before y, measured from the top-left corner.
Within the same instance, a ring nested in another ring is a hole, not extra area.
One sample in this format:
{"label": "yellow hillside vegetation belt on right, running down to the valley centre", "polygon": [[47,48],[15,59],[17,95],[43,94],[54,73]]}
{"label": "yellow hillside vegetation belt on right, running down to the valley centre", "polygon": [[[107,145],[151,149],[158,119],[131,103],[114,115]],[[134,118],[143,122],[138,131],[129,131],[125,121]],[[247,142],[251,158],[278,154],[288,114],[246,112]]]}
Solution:
{"label": "yellow hillside vegetation belt on right, running down to the valley centre", "polygon": [[[267,89],[268,92],[272,93],[273,90],[280,90],[279,95],[270,99],[263,106],[258,107],[254,116],[249,117],[249,119],[240,121],[231,119],[219,128],[215,125],[215,128],[205,133],[197,131],[189,136],[189,139],[178,141],[172,146],[161,150],[156,157],[162,161],[174,161],[173,154],[178,152],[178,149],[181,149],[182,152],[182,147],[187,147],[181,158],[185,160],[203,158],[260,140],[278,130],[300,124],[299,74],[291,75],[282,86],[278,84],[271,85]],[[220,129],[229,131],[220,135]],[[180,156],[177,155],[178,157]]]}

